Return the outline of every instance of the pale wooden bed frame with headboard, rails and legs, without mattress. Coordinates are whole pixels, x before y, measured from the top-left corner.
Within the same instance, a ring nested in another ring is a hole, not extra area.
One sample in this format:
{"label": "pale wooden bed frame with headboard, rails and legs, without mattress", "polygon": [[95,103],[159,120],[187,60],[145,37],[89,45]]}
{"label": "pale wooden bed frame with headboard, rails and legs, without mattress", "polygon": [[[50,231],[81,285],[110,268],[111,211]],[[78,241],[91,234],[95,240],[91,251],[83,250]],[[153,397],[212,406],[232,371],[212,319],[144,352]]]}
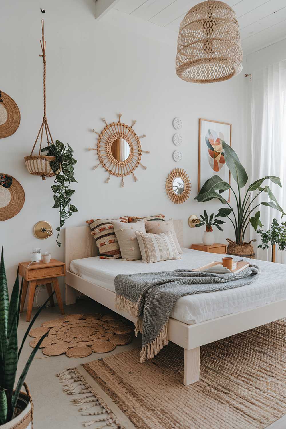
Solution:
{"label": "pale wooden bed frame with headboard, rails and legs, without mattress", "polygon": [[[183,246],[183,221],[174,221],[174,228],[178,241]],[[135,319],[129,314],[115,308],[114,292],[84,280],[69,270],[72,260],[88,258],[97,254],[90,227],[66,227],[66,304],[75,303],[75,290],[78,290],[126,319],[135,322]],[[200,347],[202,345],[256,328],[282,317],[286,317],[286,299],[194,325],[187,325],[170,318],[168,338],[184,348],[184,384],[187,386],[199,381]]]}

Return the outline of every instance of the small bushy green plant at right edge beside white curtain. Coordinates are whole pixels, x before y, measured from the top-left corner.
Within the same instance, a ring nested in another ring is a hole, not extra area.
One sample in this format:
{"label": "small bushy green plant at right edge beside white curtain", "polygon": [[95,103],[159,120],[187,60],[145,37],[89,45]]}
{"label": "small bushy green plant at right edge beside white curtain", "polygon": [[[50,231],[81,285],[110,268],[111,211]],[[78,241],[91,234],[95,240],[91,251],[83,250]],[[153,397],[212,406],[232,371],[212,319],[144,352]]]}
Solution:
{"label": "small bushy green plant at right edge beside white curtain", "polygon": [[272,258],[271,262],[275,262],[275,247],[278,245],[279,250],[286,248],[286,222],[278,224],[277,219],[273,219],[269,230],[257,230],[256,233],[261,236],[262,244],[257,247],[263,250],[269,248],[269,244],[272,246]]}

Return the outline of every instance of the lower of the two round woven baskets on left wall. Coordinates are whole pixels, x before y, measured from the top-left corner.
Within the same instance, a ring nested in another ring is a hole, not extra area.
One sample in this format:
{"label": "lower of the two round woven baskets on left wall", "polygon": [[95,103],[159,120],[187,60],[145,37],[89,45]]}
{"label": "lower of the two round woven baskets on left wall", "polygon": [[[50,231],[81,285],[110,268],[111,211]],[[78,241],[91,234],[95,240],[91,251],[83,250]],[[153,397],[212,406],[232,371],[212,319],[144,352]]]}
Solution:
{"label": "lower of the two round woven baskets on left wall", "polygon": [[0,221],[16,216],[25,202],[25,193],[14,177],[0,173]]}

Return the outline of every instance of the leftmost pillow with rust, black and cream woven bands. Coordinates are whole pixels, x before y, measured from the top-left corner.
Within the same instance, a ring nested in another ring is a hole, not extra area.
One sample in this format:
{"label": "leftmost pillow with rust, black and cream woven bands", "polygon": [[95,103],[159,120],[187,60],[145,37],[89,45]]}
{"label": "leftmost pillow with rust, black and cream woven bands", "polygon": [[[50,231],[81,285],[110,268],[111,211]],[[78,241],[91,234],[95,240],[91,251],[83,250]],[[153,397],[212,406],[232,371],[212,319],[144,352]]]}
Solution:
{"label": "leftmost pillow with rust, black and cream woven bands", "polygon": [[[115,220],[115,219],[114,219]],[[116,219],[127,223],[128,216]],[[114,233],[111,219],[90,219],[86,221],[90,226],[91,235],[95,239],[96,246],[99,250],[100,259],[117,259],[121,258],[120,248]]]}

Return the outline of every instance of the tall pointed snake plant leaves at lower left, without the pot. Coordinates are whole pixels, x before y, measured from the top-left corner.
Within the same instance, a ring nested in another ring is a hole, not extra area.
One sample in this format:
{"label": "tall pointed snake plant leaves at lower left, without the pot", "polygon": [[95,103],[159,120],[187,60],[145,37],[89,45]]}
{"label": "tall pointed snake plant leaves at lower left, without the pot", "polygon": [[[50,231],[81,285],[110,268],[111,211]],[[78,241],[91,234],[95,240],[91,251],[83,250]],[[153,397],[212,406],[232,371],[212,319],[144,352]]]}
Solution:
{"label": "tall pointed snake plant leaves at lower left, without the pot", "polygon": [[48,335],[48,333],[43,335],[36,347],[33,349],[20,375],[18,383],[14,387],[18,360],[24,345],[24,341],[27,338],[27,335],[34,321],[36,320],[39,313],[42,311],[42,308],[45,307],[46,303],[50,298],[49,297],[46,300],[46,302],[42,305],[41,308],[39,308],[36,315],[33,317],[33,320],[31,321],[24,335],[21,347],[18,351],[17,329],[20,315],[20,299],[22,287],[23,280],[19,292],[19,280],[17,272],[17,278],[15,280],[15,284],[9,302],[2,247],[0,262],[0,425],[3,425],[13,419],[15,409],[17,408],[17,401],[20,389],[24,383],[24,379],[27,375],[28,369],[30,368],[30,364],[36,354],[36,351],[39,349],[42,340],[45,338],[46,335]]}

